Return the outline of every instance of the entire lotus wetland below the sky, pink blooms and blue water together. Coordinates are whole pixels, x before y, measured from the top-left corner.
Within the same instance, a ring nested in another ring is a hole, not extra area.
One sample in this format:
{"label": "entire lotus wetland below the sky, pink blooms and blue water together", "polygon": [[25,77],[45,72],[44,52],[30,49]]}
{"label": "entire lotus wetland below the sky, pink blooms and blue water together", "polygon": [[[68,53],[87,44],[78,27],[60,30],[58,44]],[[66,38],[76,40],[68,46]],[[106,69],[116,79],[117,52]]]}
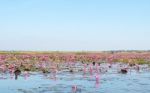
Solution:
{"label": "entire lotus wetland below the sky, pink blooms and blue water together", "polygon": [[146,51],[0,52],[0,93],[149,93],[149,64]]}

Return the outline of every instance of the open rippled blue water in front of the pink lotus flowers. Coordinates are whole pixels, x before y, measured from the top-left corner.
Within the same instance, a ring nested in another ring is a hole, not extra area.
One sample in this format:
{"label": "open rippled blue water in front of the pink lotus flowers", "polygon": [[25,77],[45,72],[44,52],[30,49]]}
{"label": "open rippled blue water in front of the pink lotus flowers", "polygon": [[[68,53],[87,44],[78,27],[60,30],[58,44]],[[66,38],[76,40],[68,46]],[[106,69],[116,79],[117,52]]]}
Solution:
{"label": "open rippled blue water in front of the pink lotus flowers", "polygon": [[15,80],[14,75],[0,74],[0,93],[150,93],[150,71],[144,69],[127,74],[117,72],[115,66],[99,74],[60,71],[52,73],[23,72]]}

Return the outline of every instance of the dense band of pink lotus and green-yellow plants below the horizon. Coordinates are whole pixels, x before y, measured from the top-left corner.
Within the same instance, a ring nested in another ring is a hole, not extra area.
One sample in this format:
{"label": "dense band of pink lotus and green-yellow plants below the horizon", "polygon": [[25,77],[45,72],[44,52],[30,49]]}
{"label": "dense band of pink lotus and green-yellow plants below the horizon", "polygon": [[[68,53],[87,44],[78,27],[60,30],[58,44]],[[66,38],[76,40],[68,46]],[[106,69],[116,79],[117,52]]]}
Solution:
{"label": "dense band of pink lotus and green-yellow plants below the horizon", "polygon": [[[11,69],[22,71],[41,71],[51,67],[60,68],[59,64],[76,64],[77,62],[92,64],[123,62],[129,64],[149,64],[150,52],[117,52],[117,53],[11,53],[0,54],[0,71],[5,72]],[[60,68],[61,69],[61,68]]]}

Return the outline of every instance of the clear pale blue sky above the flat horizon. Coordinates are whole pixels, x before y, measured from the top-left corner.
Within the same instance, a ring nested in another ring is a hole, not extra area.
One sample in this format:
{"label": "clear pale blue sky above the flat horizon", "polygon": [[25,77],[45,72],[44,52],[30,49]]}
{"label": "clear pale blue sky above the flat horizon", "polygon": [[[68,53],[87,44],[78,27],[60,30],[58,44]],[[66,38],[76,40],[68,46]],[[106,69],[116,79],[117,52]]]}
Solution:
{"label": "clear pale blue sky above the flat horizon", "polygon": [[0,50],[150,50],[150,0],[0,0]]}

